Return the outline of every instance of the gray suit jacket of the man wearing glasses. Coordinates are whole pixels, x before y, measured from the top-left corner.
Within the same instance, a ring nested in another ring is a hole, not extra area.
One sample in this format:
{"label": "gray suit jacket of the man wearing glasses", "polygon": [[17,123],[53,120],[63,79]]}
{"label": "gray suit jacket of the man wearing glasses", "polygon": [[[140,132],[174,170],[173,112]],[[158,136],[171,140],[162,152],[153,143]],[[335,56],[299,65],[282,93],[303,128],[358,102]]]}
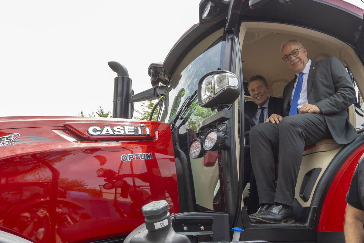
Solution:
{"label": "gray suit jacket of the man wearing glasses", "polygon": [[[296,76],[283,91],[283,113],[289,114],[289,98]],[[350,76],[336,57],[320,61],[312,60],[307,79],[308,103],[320,108],[333,139],[338,144],[348,144],[357,136],[348,120],[347,107],[355,99],[355,89]]]}

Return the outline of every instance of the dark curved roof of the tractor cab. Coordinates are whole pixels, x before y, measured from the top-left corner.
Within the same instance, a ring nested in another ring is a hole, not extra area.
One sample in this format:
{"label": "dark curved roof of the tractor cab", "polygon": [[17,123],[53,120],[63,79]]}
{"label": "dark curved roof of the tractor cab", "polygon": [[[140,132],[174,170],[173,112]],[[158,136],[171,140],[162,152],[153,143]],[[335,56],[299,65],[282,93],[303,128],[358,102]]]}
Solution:
{"label": "dark curved roof of the tractor cab", "polygon": [[[175,65],[183,54],[191,50],[198,39],[207,33],[225,27],[229,5],[215,0],[216,12],[209,20],[202,19],[202,12],[209,0],[199,4],[199,23],[190,28],[172,47],[163,64],[151,64],[151,69],[159,72],[159,81],[167,84]],[[243,0],[240,11],[240,22],[255,21],[282,23],[308,28],[331,35],[349,46],[357,43],[363,18],[363,9],[343,0],[289,0],[286,4],[272,0],[259,8],[252,9],[249,1]]]}

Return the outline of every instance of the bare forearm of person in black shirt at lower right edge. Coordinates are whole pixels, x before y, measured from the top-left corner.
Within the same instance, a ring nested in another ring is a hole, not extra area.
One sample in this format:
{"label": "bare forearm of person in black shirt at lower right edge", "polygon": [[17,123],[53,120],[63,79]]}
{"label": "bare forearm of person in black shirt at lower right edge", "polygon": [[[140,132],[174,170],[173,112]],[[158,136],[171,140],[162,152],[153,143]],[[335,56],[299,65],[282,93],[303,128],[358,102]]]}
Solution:
{"label": "bare forearm of person in black shirt at lower right edge", "polygon": [[344,235],[347,243],[362,243],[364,241],[364,211],[350,204],[345,215]]}

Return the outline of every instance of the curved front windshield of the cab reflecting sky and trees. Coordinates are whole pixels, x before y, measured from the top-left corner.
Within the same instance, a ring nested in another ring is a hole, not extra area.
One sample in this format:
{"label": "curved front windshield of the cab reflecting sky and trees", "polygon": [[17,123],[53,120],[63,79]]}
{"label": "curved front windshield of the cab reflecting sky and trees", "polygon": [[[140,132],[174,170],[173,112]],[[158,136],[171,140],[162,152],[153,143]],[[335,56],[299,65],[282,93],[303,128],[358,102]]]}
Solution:
{"label": "curved front windshield of the cab reflecting sky and trees", "polygon": [[[200,107],[197,95],[190,102],[188,99],[197,90],[198,81],[204,74],[222,67],[225,50],[222,34],[223,29],[213,33],[186,54],[170,80],[160,114],[160,120],[163,122],[174,124],[174,121],[178,120],[175,125],[179,131],[179,146],[190,161],[195,203],[199,211],[225,211],[220,185],[220,151],[210,151],[204,157],[196,159],[190,158],[188,153],[190,141],[197,138],[198,124],[216,112]],[[183,105],[185,101],[187,105]]]}

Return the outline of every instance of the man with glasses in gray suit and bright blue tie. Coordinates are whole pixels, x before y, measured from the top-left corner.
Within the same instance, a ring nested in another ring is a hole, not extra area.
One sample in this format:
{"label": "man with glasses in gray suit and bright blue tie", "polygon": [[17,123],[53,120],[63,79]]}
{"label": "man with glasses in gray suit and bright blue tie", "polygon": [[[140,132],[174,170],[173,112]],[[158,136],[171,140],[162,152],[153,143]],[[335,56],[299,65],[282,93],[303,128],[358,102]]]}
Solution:
{"label": "man with glasses in gray suit and bright blue tie", "polygon": [[[272,114],[249,135],[261,206],[252,220],[265,223],[295,221],[292,204],[305,145],[327,138],[347,144],[357,136],[347,118],[355,90],[340,60],[311,60],[298,40],[284,42],[281,54],[296,74],[283,91],[283,117]],[[276,188],[275,150],[279,154]]]}

